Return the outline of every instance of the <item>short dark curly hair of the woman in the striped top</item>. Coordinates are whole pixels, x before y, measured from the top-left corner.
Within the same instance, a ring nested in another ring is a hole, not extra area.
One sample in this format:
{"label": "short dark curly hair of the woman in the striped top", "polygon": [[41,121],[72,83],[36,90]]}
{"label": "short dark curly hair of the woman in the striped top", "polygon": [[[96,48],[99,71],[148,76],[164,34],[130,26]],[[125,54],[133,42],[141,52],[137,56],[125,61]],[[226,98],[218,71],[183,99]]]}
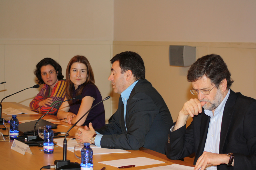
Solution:
{"label": "short dark curly hair of the woman in the striped top", "polygon": [[54,59],[44,58],[39,63],[37,63],[36,69],[34,71],[34,74],[37,77],[36,81],[38,82],[38,84],[45,84],[45,82],[42,80],[42,77],[41,77],[41,67],[47,66],[47,65],[51,65],[52,67],[54,67],[54,69],[57,73],[58,80],[63,79],[64,76],[62,75],[62,72],[61,72],[62,69],[61,69],[60,64],[58,64]]}

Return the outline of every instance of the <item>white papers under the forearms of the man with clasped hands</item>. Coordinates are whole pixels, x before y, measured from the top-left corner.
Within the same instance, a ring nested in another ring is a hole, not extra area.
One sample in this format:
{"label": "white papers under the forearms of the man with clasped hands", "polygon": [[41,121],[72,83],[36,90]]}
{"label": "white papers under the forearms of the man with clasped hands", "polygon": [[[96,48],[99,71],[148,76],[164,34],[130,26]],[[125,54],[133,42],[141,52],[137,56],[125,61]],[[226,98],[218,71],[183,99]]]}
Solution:
{"label": "white papers under the forearms of the man with clasped hands", "polygon": [[[53,139],[58,146],[63,147],[63,138],[62,139]],[[67,138],[67,150],[74,152],[74,146],[78,145],[76,140],[72,140],[72,138]],[[109,153],[130,153],[129,151],[123,150],[123,149],[107,149],[107,148],[101,148],[95,145],[90,145],[93,151],[93,155],[99,155],[99,154],[109,154]]]}

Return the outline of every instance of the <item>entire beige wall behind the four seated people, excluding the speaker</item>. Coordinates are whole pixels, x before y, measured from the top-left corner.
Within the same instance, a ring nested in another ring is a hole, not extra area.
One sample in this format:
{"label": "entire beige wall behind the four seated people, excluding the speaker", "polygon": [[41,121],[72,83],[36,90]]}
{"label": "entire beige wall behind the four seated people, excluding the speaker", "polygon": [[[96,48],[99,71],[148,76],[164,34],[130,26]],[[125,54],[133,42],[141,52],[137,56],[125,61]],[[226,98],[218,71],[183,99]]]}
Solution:
{"label": "entire beige wall behind the four seated people, excluding the speaker", "polygon": [[[146,79],[176,120],[183,103],[194,96],[186,81],[189,68],[169,66],[169,45],[195,46],[197,58],[221,55],[235,80],[232,90],[256,98],[255,8],[255,0],[0,0],[0,82],[7,82],[0,85],[0,99],[33,86],[41,59],[54,58],[65,74],[71,57],[85,55],[102,97],[112,96],[104,103],[108,119],[119,97],[107,80],[109,60],[131,50],[142,56]],[[38,90],[5,101],[28,106]]]}

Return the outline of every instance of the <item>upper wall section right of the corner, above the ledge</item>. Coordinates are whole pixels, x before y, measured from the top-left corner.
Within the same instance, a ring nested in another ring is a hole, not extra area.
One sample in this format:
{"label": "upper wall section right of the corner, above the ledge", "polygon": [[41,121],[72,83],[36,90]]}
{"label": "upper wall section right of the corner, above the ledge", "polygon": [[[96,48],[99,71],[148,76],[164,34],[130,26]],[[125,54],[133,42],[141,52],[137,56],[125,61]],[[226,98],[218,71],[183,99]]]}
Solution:
{"label": "upper wall section right of the corner, above the ledge", "polygon": [[116,0],[114,41],[256,42],[255,0]]}

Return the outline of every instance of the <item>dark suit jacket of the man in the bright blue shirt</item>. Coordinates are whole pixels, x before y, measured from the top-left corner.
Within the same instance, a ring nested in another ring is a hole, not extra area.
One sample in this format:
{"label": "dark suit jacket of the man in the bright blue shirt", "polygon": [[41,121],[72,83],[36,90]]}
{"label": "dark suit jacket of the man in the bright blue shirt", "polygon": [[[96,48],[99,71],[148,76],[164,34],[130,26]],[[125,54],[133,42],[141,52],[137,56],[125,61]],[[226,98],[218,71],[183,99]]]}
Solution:
{"label": "dark suit jacket of the man in the bright blue shirt", "polygon": [[103,134],[100,145],[102,148],[138,150],[145,147],[165,154],[164,145],[172,116],[161,97],[151,83],[139,80],[127,100],[124,124],[124,106],[119,98],[118,110],[112,120],[101,129]]}

